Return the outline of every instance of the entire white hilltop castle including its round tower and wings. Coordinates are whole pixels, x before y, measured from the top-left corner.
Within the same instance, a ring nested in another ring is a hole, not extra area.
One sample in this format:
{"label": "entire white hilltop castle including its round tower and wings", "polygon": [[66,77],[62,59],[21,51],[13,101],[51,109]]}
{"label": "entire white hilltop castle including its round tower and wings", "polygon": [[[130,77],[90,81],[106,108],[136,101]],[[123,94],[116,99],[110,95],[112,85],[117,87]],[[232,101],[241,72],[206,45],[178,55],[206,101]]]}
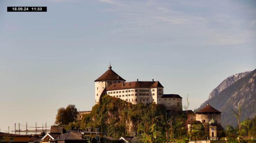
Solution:
{"label": "entire white hilltop castle including its round tower and wings", "polygon": [[166,109],[182,111],[182,98],[177,94],[164,94],[163,85],[159,81],[125,82],[121,76],[109,69],[95,82],[95,103],[99,103],[102,95],[120,98],[132,104],[163,104]]}

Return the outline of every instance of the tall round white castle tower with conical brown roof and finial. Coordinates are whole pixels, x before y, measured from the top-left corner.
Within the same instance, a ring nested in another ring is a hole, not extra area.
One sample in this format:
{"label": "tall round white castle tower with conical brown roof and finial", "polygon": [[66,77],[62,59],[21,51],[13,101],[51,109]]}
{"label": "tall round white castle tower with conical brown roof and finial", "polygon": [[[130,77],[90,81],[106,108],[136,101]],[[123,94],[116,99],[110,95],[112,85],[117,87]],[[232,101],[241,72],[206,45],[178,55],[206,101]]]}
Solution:
{"label": "tall round white castle tower with conical brown roof and finial", "polygon": [[121,76],[119,76],[117,73],[115,73],[112,70],[111,64],[108,67],[108,70],[103,73],[102,76],[100,76],[95,81],[95,104],[99,103],[99,100],[102,95],[107,94],[107,88],[113,84],[113,83],[121,83],[125,82],[125,79],[123,79]]}

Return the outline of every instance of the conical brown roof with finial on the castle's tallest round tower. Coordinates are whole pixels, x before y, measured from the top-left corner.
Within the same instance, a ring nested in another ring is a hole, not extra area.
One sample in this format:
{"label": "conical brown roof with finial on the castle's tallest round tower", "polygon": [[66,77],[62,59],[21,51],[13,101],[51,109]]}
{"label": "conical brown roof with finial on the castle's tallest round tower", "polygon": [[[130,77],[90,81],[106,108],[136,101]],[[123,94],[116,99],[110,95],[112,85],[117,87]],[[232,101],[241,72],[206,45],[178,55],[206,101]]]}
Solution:
{"label": "conical brown roof with finial on the castle's tallest round tower", "polygon": [[117,73],[115,73],[112,70],[111,65],[108,67],[109,70],[107,70],[105,73],[103,73],[102,76],[100,76],[98,79],[95,81],[105,81],[105,80],[120,80],[120,81],[125,81],[121,76],[119,76]]}

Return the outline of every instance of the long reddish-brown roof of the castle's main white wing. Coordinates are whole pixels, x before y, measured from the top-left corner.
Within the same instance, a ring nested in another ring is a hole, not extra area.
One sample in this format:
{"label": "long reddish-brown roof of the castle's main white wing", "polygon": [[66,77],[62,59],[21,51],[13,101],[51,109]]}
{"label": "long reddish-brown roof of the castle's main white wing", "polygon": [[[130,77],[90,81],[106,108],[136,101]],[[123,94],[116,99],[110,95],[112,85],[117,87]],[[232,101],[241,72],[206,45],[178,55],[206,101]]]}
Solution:
{"label": "long reddish-brown roof of the castle's main white wing", "polygon": [[131,81],[124,83],[111,84],[107,91],[109,90],[125,90],[131,88],[156,88],[163,87],[159,81]]}

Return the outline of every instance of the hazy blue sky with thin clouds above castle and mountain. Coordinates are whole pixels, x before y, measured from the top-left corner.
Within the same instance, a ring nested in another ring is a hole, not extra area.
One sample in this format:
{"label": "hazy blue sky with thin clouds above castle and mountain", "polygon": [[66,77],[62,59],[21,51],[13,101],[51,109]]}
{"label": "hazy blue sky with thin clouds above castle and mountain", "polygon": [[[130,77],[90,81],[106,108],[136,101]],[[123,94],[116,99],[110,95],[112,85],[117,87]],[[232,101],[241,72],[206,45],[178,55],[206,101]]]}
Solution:
{"label": "hazy blue sky with thin clouds above castle and mountain", "polygon": [[[47,12],[6,12],[47,6]],[[255,0],[1,0],[0,129],[94,105],[94,80],[160,81],[189,108],[256,68]],[[22,126],[23,127],[23,126]]]}

